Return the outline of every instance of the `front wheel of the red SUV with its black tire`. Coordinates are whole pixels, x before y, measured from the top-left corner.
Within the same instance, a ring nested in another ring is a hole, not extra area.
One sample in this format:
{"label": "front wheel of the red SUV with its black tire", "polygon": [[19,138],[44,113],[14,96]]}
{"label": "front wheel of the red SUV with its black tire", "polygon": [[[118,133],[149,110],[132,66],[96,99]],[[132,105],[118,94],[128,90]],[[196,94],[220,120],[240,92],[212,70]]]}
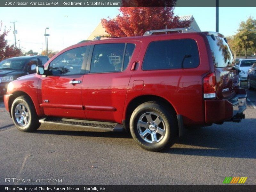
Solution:
{"label": "front wheel of the red SUV with its black tire", "polygon": [[[19,107],[22,110],[19,110],[18,109]],[[39,118],[36,114],[36,109],[34,107],[32,100],[28,96],[17,97],[12,103],[11,110],[12,110],[11,111],[12,112],[12,121],[15,124],[15,126],[17,127],[17,129],[19,129],[20,131],[33,132],[39,128],[40,123],[39,123]],[[17,116],[15,116],[15,110],[17,112],[16,113]],[[19,114],[22,114],[24,116],[19,115]],[[19,118],[19,116],[20,116],[20,118]],[[21,117],[24,120],[21,120]],[[25,118],[26,118],[26,122],[25,122]],[[18,122],[18,119],[20,120],[20,124]],[[21,124],[24,124],[24,125],[21,125]]]}

